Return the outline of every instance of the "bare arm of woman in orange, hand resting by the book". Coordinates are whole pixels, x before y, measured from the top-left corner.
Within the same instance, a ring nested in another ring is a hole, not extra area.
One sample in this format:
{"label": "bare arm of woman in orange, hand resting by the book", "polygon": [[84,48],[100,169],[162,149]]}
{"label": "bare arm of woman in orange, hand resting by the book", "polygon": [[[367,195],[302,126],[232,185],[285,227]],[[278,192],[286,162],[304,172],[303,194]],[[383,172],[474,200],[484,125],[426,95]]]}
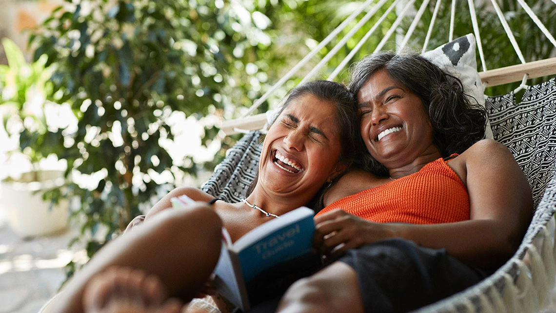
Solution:
{"label": "bare arm of woman in orange, hand resting by the book", "polygon": [[469,192],[470,221],[379,224],[334,211],[315,218],[323,236],[336,231],[335,236],[325,240],[325,246],[344,243],[341,252],[364,243],[401,237],[424,247],[446,248],[459,260],[483,268],[501,265],[512,256],[527,230],[532,214],[529,184],[509,150],[494,140],[480,141],[458,158],[464,167],[460,177]]}

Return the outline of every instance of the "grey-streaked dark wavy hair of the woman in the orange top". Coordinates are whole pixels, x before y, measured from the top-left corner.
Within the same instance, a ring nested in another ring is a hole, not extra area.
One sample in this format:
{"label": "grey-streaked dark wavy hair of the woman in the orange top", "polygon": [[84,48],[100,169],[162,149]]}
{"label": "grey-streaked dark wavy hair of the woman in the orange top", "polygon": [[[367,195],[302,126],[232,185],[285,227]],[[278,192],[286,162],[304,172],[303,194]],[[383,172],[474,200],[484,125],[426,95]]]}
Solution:
{"label": "grey-streaked dark wavy hair of the woman in the orange top", "polygon": [[[357,95],[365,82],[380,70],[388,72],[393,80],[421,99],[433,125],[434,144],[443,158],[462,153],[484,138],[484,107],[464,94],[463,84],[457,77],[446,74],[421,55],[396,55],[388,51],[366,56],[351,69],[349,90]],[[389,175],[369,153],[365,162],[358,165],[377,175]]]}

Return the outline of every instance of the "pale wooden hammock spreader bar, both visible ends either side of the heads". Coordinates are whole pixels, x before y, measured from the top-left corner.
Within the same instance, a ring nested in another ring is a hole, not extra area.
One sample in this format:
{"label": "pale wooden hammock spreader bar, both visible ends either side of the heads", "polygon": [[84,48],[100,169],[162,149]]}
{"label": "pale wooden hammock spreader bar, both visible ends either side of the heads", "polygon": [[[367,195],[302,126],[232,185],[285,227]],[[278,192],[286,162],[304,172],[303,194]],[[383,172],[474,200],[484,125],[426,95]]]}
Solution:
{"label": "pale wooden hammock spreader bar, both visible ends either side of the heads", "polygon": [[[521,81],[523,75],[529,79],[556,74],[556,57],[533,61],[525,64],[502,67],[501,69],[480,72],[481,80],[486,86],[498,86],[510,82]],[[226,136],[245,133],[249,130],[262,129],[266,123],[266,114],[247,116],[241,119],[222,121],[220,129]]]}

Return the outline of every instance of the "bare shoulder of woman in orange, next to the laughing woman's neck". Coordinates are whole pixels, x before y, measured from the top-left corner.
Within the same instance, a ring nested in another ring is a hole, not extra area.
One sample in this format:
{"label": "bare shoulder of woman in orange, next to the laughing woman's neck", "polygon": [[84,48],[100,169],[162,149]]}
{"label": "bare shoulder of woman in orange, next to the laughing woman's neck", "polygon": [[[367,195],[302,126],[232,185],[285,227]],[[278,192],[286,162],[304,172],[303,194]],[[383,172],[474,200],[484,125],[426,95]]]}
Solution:
{"label": "bare shoulder of woman in orange, next to the laughing woman's neck", "polygon": [[380,185],[380,178],[365,170],[354,169],[342,175],[337,182],[330,187],[324,195],[324,206],[356,194],[366,189],[370,189]]}

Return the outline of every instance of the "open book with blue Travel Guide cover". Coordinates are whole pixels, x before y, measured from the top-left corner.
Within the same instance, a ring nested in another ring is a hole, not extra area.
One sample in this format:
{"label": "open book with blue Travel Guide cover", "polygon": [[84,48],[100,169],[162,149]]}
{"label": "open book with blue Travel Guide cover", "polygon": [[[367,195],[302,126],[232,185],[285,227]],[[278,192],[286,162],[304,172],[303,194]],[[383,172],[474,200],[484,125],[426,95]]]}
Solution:
{"label": "open book with blue Travel Guide cover", "polygon": [[[174,208],[192,202],[171,199]],[[306,207],[271,219],[232,243],[222,228],[220,259],[214,270],[217,291],[242,311],[284,292],[320,264],[312,250],[314,212]]]}

